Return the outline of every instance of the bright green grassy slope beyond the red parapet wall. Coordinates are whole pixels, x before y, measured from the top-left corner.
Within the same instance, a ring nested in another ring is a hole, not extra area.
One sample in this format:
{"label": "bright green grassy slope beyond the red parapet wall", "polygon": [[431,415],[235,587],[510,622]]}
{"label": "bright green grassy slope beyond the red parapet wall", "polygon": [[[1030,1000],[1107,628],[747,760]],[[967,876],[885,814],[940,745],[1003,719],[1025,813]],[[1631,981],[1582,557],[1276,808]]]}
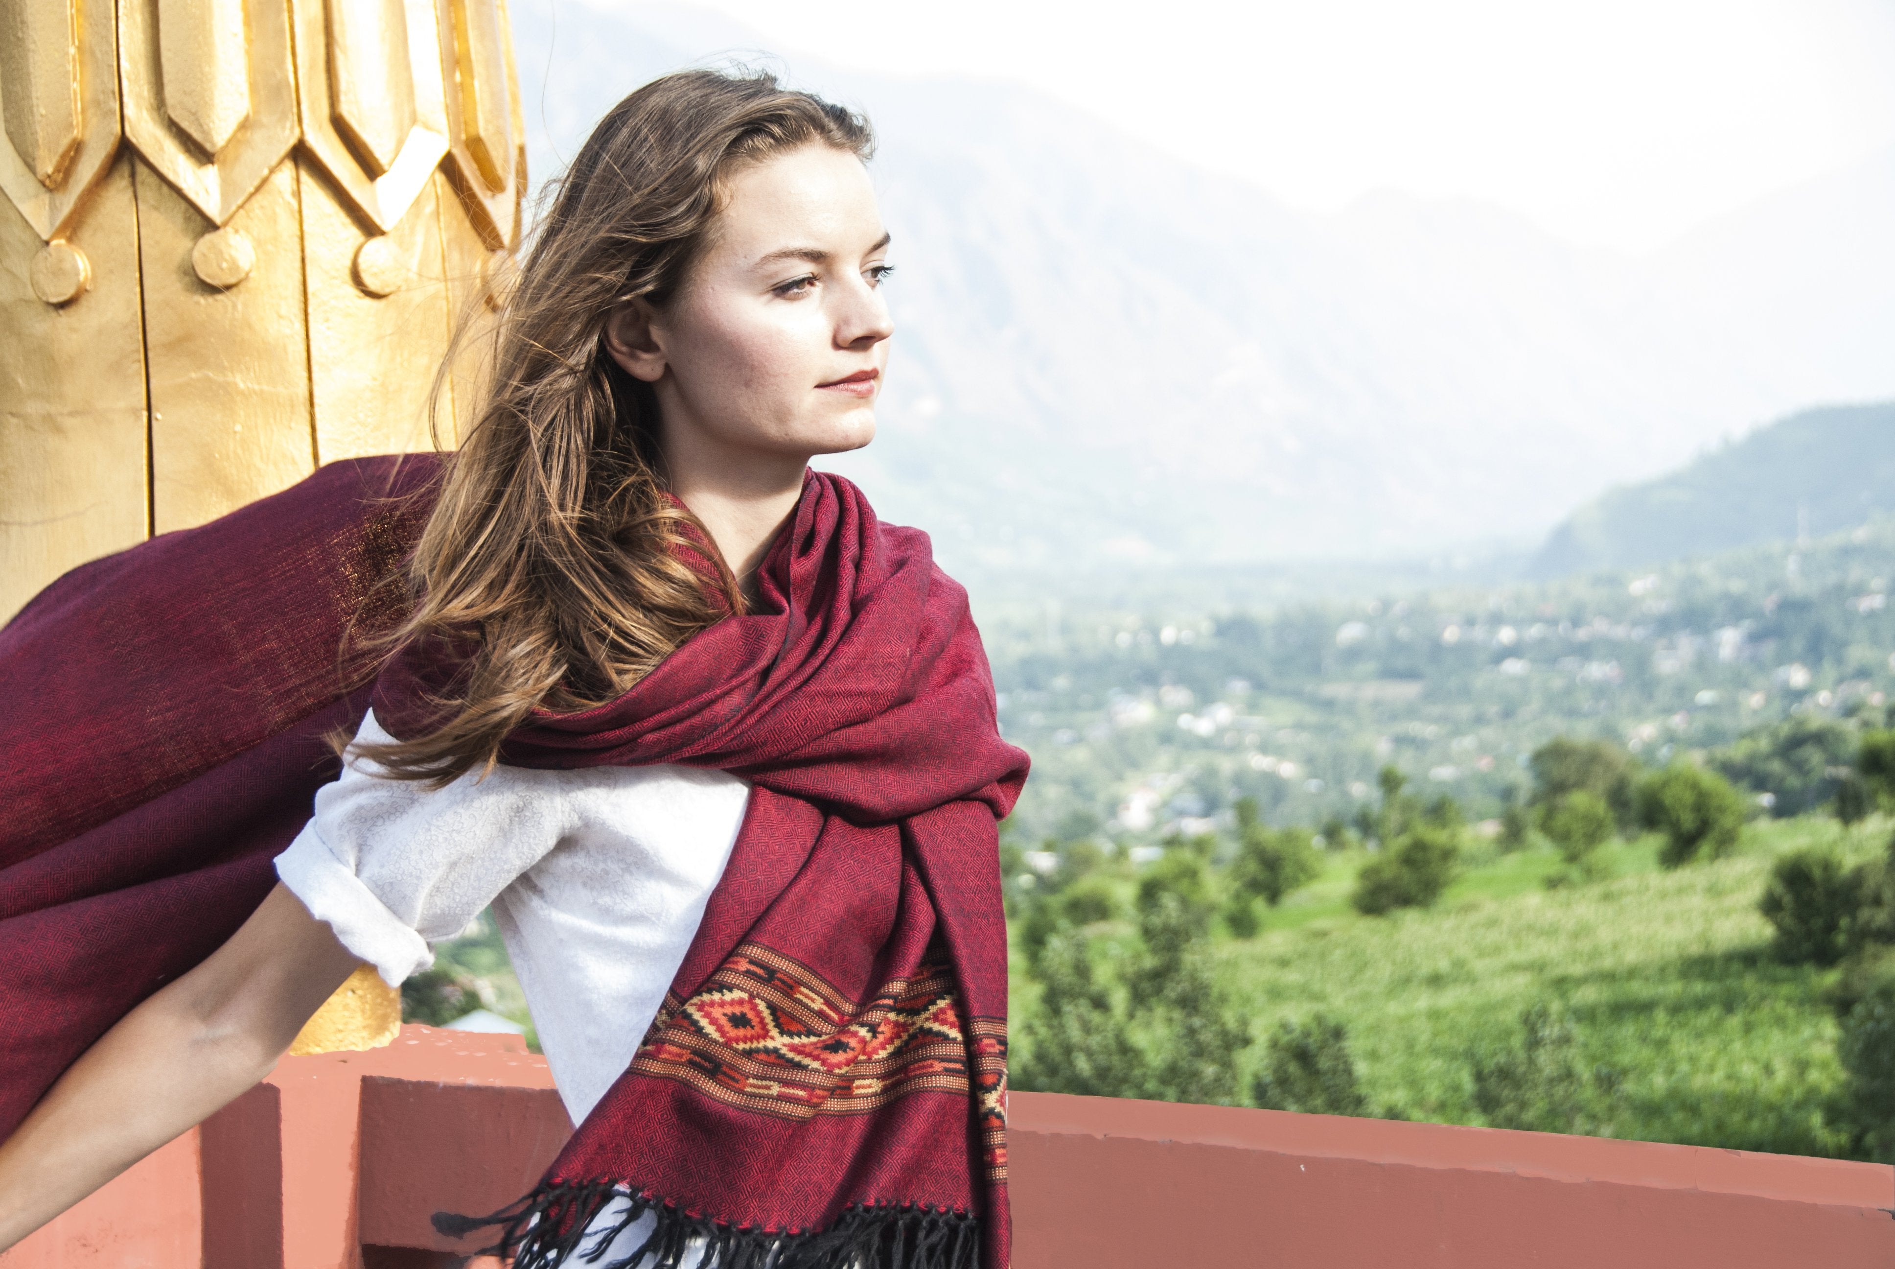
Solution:
{"label": "bright green grassy slope beyond the red parapet wall", "polygon": [[[1550,850],[1489,857],[1425,912],[1364,918],[1347,905],[1364,855],[1218,943],[1224,986],[1260,1039],[1323,1011],[1349,1028],[1372,1104],[1436,1123],[1482,1123],[1471,1051],[1520,1041],[1520,1015],[1558,1003],[1586,1066],[1620,1079],[1611,1136],[1834,1155],[1842,1070],[1823,1000],[1836,971],[1779,966],[1757,899],[1776,855],[1831,842],[1851,859],[1886,827],[1759,821],[1740,850],[1675,873],[1656,840],[1613,848],[1613,876],[1546,890]],[[1016,964],[1014,1034],[1035,1007]],[[1251,1060],[1260,1060],[1254,1045]]]}

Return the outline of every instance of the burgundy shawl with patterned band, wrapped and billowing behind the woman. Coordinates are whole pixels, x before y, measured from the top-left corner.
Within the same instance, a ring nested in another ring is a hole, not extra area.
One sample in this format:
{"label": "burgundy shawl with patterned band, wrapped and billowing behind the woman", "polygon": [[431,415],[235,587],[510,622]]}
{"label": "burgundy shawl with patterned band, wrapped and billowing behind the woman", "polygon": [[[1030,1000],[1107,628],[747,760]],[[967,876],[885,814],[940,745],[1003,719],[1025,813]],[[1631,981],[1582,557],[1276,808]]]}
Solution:
{"label": "burgundy shawl with patterned band, wrapped and billowing behind the woman", "polygon": [[[370,700],[404,734],[432,670],[345,690],[387,620],[432,459],[322,469],[83,565],[0,630],[0,1136],[114,1021],[256,909]],[[811,476],[764,603],[631,692],[536,715],[519,766],[690,763],[752,783],[703,926],[631,1068],[495,1218],[517,1269],[656,1212],[743,1269],[1008,1263],[999,738],[965,592],[927,535]],[[620,1210],[625,1210],[623,1206]]]}

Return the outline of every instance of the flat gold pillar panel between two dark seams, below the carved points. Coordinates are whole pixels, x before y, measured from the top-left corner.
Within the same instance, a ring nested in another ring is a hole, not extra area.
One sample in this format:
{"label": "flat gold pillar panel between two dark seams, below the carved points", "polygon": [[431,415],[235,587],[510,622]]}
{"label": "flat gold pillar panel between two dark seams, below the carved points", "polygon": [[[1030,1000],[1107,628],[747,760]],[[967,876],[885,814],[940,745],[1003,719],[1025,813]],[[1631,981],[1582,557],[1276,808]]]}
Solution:
{"label": "flat gold pillar panel between two dark seams, below the carved points", "polygon": [[152,385],[152,520],[186,529],[315,470],[298,173],[284,161],[229,218],[254,252],[229,290],[191,248],[212,226],[136,165],[144,332]]}

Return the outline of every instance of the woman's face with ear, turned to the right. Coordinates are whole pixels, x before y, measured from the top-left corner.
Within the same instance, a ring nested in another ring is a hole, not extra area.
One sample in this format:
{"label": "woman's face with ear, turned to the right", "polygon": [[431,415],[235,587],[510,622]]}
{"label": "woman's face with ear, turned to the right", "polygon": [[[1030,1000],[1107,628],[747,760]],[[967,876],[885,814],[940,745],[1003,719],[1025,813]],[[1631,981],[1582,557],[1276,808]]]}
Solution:
{"label": "woman's face with ear, turned to the right", "polygon": [[853,154],[807,144],[739,171],[686,286],[606,324],[614,360],[658,395],[665,457],[800,467],[874,440],[887,250]]}

